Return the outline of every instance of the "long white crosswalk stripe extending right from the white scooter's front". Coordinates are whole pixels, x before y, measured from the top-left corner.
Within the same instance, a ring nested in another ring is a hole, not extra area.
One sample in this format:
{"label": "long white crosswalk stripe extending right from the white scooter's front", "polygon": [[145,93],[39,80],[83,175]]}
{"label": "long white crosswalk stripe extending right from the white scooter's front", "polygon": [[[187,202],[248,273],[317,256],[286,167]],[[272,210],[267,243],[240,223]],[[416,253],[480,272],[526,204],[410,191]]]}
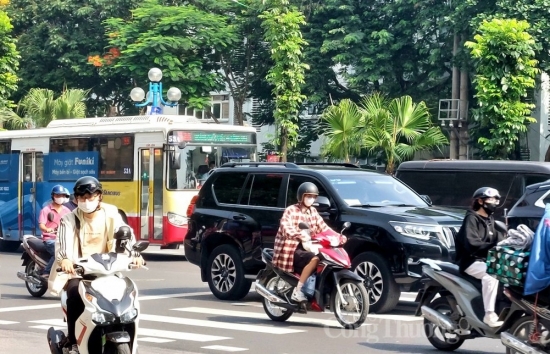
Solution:
{"label": "long white crosswalk stripe extending right from the white scooter's front", "polygon": [[268,333],[268,334],[289,334],[289,333],[305,332],[304,330],[290,329],[290,328],[280,328],[280,327],[271,327],[271,326],[267,327],[267,326],[258,326],[258,325],[248,325],[248,324],[238,324],[238,323],[208,321],[208,320],[196,320],[192,318],[147,315],[147,314],[142,314],[139,317],[139,319],[140,321],[173,323],[173,324],[181,324],[181,325],[188,325],[188,326],[221,328],[221,329],[230,329],[234,331],[248,331],[248,332]]}

